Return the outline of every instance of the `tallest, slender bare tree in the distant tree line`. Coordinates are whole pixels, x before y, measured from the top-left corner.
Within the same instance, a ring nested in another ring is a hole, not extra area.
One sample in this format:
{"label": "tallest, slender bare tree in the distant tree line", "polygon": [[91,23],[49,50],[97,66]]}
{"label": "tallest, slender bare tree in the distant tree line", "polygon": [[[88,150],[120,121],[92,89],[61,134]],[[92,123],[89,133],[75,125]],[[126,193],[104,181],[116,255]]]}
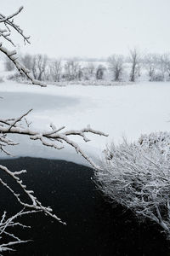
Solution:
{"label": "tallest, slender bare tree in the distant tree line", "polygon": [[136,48],[130,49],[129,61],[132,64],[131,73],[130,73],[130,81],[134,82],[136,79],[136,74],[138,71],[137,68],[138,68],[139,61],[140,61],[140,55],[139,55],[138,49],[136,49]]}

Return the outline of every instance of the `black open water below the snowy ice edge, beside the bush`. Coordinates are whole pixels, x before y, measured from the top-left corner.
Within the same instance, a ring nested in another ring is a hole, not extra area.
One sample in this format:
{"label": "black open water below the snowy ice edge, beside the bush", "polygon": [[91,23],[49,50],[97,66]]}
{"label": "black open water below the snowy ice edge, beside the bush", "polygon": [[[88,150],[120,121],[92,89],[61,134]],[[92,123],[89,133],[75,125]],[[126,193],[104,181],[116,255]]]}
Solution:
{"label": "black open water below the snowy ice edge, beside the bush", "polygon": [[[53,207],[67,223],[63,226],[42,213],[23,218],[32,228],[17,232],[33,241],[4,255],[170,255],[169,244],[156,226],[139,224],[131,212],[104,201],[91,179],[92,169],[61,160],[33,158],[0,163],[11,170],[27,169],[25,183],[30,184],[43,205]],[[19,209],[2,186],[0,193],[1,212]]]}

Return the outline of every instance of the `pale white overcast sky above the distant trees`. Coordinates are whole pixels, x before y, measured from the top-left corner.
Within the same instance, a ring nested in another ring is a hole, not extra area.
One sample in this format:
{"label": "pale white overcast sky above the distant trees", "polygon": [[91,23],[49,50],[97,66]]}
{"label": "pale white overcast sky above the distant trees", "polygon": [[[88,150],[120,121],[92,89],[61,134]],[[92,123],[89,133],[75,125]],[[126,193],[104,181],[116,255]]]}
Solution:
{"label": "pale white overcast sky above the distant trees", "polygon": [[31,45],[15,38],[21,51],[51,57],[127,54],[129,48],[170,51],[170,0],[1,0]]}

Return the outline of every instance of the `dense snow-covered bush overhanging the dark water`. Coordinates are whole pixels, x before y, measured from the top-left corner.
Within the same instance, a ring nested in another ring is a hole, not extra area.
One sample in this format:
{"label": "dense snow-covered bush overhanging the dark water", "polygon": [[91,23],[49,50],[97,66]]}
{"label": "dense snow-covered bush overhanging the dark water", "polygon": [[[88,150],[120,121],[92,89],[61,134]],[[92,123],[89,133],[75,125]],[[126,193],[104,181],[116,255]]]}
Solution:
{"label": "dense snow-covered bush overhanging the dark water", "polygon": [[113,204],[150,218],[170,237],[170,132],[143,135],[136,143],[112,143],[95,179]]}

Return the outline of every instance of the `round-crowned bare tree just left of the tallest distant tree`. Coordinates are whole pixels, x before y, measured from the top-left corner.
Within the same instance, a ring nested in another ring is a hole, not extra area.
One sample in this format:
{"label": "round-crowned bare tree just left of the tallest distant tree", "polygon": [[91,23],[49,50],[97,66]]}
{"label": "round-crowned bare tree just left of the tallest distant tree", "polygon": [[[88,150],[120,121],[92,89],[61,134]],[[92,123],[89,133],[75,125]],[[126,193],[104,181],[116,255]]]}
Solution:
{"label": "round-crowned bare tree just left of the tallest distant tree", "polygon": [[115,81],[119,81],[123,72],[123,56],[112,55],[108,59],[109,70]]}

